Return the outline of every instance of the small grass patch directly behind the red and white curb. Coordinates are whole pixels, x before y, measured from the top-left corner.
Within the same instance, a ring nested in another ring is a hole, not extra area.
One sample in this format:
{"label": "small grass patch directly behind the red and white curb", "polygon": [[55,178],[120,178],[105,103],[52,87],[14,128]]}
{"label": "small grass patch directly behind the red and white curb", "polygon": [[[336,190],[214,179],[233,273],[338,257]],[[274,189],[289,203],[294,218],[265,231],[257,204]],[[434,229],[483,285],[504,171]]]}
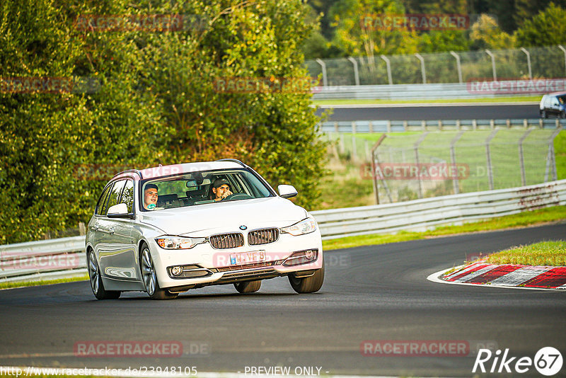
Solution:
{"label": "small grass patch directly behind the red and white curb", "polygon": [[485,259],[492,264],[566,266],[566,241],[542,241],[492,253]]}

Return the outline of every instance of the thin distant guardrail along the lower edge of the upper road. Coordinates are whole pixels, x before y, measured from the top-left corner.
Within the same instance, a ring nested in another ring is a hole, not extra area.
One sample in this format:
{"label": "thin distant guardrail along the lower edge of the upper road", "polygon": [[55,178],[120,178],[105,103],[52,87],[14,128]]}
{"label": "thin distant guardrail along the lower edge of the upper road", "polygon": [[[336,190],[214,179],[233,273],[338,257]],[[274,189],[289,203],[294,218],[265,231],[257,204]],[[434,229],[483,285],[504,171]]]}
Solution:
{"label": "thin distant guardrail along the lower edge of the upper road", "polygon": [[557,129],[566,128],[565,119],[515,119],[515,120],[365,120],[328,121],[320,123],[320,132],[405,132],[431,130],[495,130],[507,129]]}

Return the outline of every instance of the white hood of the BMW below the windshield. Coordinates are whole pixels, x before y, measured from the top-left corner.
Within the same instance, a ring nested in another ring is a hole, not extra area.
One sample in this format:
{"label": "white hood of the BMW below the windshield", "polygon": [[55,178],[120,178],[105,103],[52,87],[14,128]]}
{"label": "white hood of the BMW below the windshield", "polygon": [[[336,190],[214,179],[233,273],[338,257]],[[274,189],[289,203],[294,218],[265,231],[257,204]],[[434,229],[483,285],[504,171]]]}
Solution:
{"label": "white hood of the BMW below the windshield", "polygon": [[299,222],[307,212],[281,197],[257,198],[141,212],[140,222],[169,235],[208,236],[219,232],[264,227],[285,227]]}

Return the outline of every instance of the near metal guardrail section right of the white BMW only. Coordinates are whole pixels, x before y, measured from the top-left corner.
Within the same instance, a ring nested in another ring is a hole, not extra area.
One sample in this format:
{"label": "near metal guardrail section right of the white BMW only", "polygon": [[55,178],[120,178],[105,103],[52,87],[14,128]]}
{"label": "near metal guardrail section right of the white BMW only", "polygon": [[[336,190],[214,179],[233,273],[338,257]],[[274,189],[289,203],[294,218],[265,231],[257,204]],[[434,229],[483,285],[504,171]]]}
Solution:
{"label": "near metal guardrail section right of the white BMW only", "polygon": [[432,227],[566,205],[566,180],[519,188],[446,195],[386,205],[311,212],[323,239]]}

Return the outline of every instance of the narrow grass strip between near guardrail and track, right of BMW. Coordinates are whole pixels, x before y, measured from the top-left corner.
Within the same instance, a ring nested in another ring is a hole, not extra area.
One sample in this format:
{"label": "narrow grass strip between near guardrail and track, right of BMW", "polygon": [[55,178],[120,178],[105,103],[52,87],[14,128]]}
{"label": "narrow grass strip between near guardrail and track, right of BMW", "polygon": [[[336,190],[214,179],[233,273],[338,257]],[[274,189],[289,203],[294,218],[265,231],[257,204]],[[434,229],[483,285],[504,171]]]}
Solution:
{"label": "narrow grass strip between near guardrail and track, right of BMW", "polygon": [[396,243],[417,239],[428,239],[435,236],[464,234],[468,232],[493,231],[516,227],[533,226],[547,222],[557,222],[566,219],[566,206],[547,207],[533,212],[507,215],[482,222],[467,223],[461,226],[445,226],[424,232],[402,231],[394,235],[362,235],[348,236],[340,239],[323,240],[323,250],[351,248],[357,246],[373,246],[376,244]]}

